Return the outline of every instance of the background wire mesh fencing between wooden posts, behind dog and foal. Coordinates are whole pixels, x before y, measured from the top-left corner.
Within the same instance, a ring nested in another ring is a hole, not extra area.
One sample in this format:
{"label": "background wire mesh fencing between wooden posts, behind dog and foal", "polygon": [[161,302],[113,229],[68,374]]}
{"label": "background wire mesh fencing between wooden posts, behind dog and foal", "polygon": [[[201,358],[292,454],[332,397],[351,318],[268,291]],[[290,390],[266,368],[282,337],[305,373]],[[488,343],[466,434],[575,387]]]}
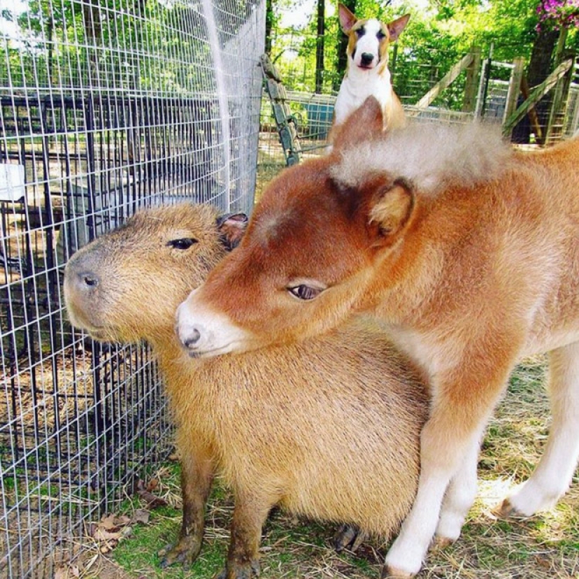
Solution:
{"label": "background wire mesh fencing between wooden posts, behind dog and foal", "polygon": [[[394,53],[394,48],[392,48],[392,53]],[[394,91],[399,95],[410,122],[464,124],[474,119],[482,119],[487,124],[505,123],[507,102],[513,83],[514,64],[512,62],[497,62],[491,58],[482,59],[477,74],[474,74],[471,79],[476,83],[472,87],[472,98],[468,106],[465,106],[466,95],[469,92],[467,69],[462,69],[449,86],[437,93],[432,102],[420,105],[420,100],[444,78],[453,65],[457,64],[457,61],[446,58],[444,66],[441,67],[439,58],[433,58],[432,55],[424,55],[424,58],[425,60],[420,61],[414,53],[403,51],[390,59]],[[436,60],[437,66],[429,64],[430,60]],[[552,133],[547,141],[549,143],[569,137],[575,131],[579,131],[579,64],[574,65],[574,71],[566,103],[561,108],[562,112],[557,122],[551,126]],[[287,88],[284,91],[284,100],[290,112],[290,122],[295,127],[295,133],[300,142],[300,157],[307,158],[322,154],[332,124],[335,93],[291,90],[292,87],[305,84],[305,79],[302,78],[305,72],[293,68],[291,63],[279,67],[277,74]],[[542,112],[538,114],[538,119],[542,124],[547,124],[550,95],[551,93],[547,93],[540,100],[540,105],[545,104],[541,107]],[[522,100],[522,97],[519,98],[517,104],[520,104]],[[526,121],[525,118],[523,122]],[[282,129],[277,126],[269,98],[264,98],[262,102],[260,128],[258,194],[262,185],[286,165],[284,147],[281,145],[278,134]]]}

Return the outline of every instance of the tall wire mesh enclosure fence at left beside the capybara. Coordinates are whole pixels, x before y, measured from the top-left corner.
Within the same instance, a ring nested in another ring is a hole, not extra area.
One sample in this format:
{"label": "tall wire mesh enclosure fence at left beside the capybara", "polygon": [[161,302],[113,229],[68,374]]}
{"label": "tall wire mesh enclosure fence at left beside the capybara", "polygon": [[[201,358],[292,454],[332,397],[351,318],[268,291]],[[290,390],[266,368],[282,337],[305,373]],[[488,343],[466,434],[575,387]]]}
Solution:
{"label": "tall wire mesh enclosure fence at left beside the capybara", "polygon": [[73,251],[142,206],[249,211],[265,0],[0,11],[0,577],[51,577],[172,448],[146,345],[62,304]]}

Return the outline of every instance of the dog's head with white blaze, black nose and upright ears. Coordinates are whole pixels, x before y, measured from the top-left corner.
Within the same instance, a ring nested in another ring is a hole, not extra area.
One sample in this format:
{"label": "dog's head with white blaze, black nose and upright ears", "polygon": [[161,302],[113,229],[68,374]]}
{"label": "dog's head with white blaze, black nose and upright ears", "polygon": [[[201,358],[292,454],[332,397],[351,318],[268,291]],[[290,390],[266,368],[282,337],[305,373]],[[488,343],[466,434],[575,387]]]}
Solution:
{"label": "dog's head with white blaze, black nose and upright ears", "polygon": [[348,61],[363,70],[372,70],[388,60],[388,45],[394,42],[406,27],[410,14],[384,24],[375,18],[358,20],[343,4],[338,4],[340,26],[347,36]]}

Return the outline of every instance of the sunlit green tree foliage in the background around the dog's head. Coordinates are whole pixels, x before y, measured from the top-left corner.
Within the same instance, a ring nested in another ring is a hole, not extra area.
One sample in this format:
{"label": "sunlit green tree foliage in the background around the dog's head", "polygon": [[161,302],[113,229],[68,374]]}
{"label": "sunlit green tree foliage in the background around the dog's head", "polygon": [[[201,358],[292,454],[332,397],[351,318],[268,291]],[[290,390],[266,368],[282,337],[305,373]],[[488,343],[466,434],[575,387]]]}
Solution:
{"label": "sunlit green tree foliage in the background around the dog's head", "polygon": [[[470,51],[481,48],[483,58],[512,62],[516,57],[531,56],[538,37],[539,0],[430,0],[427,8],[412,0],[387,4],[376,0],[358,0],[355,13],[359,18],[394,20],[411,13],[408,26],[390,53],[394,88],[404,102],[413,104],[441,79],[455,62]],[[284,6],[279,2],[279,8]],[[339,25],[335,4],[326,2],[326,36],[324,92],[339,86],[341,74],[336,71]],[[277,27],[272,56],[281,69],[288,88],[314,90],[315,15],[300,27]],[[279,22],[279,21],[278,21]],[[578,44],[578,34],[570,30],[567,46]],[[328,65],[330,65],[328,67]],[[461,106],[464,74],[444,91],[434,105]]]}

